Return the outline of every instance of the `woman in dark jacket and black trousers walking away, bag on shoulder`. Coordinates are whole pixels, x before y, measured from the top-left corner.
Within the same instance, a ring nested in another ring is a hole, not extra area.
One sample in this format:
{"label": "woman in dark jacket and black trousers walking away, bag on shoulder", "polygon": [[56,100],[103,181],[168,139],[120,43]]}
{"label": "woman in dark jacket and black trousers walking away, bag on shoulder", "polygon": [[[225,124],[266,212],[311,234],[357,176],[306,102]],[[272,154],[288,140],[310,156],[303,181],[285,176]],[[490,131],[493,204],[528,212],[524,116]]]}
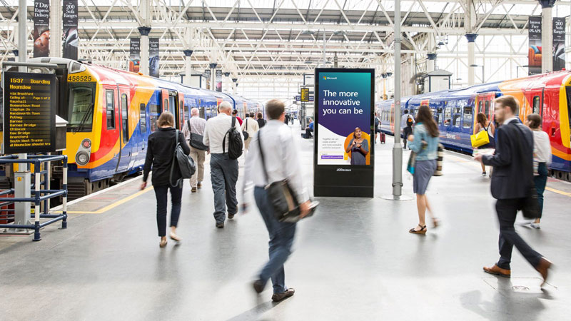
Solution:
{"label": "woman in dark jacket and black trousers walking away, bag on shoulder", "polygon": [[[145,167],[143,169],[143,184],[141,190],[146,188],[148,173],[153,165],[153,177],[151,182],[155,189],[156,195],[156,225],[158,227],[158,236],[161,237],[159,246],[166,246],[166,203],[168,189],[171,189],[171,239],[180,242],[181,238],[176,235],[176,225],[178,223],[178,215],[181,214],[181,198],[183,193],[182,186],[172,186],[170,183],[171,165],[173,165],[174,149],[176,148],[176,129],[174,128],[174,116],[168,111],[161,113],[157,121],[158,131],[148,136],[147,156]],[[181,144],[184,153],[191,153],[184,139],[183,133],[178,131],[178,143]],[[176,167],[178,168],[178,167]],[[179,170],[173,170],[172,181],[176,182],[181,178]]]}

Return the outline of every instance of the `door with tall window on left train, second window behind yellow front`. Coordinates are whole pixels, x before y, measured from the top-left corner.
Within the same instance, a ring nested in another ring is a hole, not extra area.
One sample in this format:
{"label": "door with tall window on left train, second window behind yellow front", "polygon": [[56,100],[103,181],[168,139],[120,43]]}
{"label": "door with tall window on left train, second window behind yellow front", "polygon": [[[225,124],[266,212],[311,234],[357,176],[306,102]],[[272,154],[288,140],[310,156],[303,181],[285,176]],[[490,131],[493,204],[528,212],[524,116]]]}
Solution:
{"label": "door with tall window on left train, second window behind yellow front", "polygon": [[119,113],[119,160],[117,163],[117,172],[123,172],[128,170],[129,163],[131,163],[131,156],[133,155],[132,145],[129,144],[129,102],[131,101],[131,95],[128,86],[117,86],[118,89],[118,103],[120,108]]}

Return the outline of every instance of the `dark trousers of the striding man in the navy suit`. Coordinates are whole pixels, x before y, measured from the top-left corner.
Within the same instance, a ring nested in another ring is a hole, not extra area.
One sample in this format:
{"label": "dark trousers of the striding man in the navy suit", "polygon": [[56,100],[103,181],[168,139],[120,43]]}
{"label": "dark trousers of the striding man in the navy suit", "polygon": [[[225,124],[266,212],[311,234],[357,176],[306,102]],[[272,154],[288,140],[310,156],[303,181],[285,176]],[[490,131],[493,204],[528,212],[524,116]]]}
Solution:
{"label": "dark trousers of the striding man in the navy suit", "polygon": [[523,205],[524,198],[509,198],[505,200],[497,200],[495,210],[497,212],[497,220],[500,221],[500,260],[497,266],[502,269],[510,270],[510,262],[512,260],[512,250],[515,245],[527,262],[533,267],[540,263],[541,255],[535,252],[530,245],[525,243],[520,235],[515,232],[513,224],[515,223],[515,215]]}

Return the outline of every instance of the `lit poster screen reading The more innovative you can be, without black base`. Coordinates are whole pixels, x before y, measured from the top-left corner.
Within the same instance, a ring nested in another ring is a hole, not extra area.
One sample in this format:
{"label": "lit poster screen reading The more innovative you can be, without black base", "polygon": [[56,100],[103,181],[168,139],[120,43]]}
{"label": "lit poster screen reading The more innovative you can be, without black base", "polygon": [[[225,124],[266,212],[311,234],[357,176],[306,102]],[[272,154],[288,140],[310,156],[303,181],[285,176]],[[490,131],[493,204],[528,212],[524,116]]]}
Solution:
{"label": "lit poster screen reading The more innovative you can be, without black base", "polygon": [[317,165],[370,165],[373,70],[316,72]]}

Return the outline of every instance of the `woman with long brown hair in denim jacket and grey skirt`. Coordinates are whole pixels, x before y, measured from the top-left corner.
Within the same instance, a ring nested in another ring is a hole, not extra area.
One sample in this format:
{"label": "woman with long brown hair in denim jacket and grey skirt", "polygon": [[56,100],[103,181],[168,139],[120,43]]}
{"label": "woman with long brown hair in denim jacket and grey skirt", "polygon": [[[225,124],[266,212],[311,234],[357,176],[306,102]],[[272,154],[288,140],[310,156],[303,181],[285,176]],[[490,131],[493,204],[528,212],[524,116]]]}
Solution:
{"label": "woman with long brown hair in denim jacket and grey skirt", "polygon": [[438,126],[434,121],[428,106],[420,106],[416,115],[413,135],[408,136],[410,149],[416,153],[415,173],[413,175],[413,190],[416,194],[416,208],[418,210],[418,225],[409,230],[414,234],[425,234],[425,213],[428,209],[433,225],[438,226],[438,220],[433,215],[425,192],[428,182],[436,170],[438,158]]}

